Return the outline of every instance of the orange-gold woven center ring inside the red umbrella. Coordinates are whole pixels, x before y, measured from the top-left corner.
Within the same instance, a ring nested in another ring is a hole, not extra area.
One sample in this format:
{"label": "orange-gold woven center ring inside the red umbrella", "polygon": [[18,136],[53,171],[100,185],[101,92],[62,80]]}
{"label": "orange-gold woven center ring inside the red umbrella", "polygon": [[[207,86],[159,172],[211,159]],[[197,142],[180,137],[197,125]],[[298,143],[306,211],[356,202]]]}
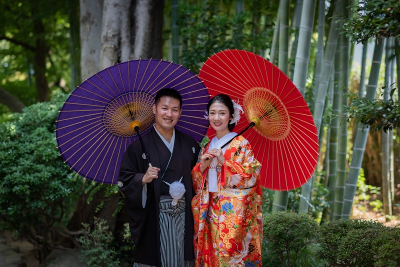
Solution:
{"label": "orange-gold woven center ring inside the red umbrella", "polygon": [[243,98],[248,121],[255,123],[255,130],[271,140],[284,139],[290,131],[290,119],[282,100],[263,87],[249,89]]}

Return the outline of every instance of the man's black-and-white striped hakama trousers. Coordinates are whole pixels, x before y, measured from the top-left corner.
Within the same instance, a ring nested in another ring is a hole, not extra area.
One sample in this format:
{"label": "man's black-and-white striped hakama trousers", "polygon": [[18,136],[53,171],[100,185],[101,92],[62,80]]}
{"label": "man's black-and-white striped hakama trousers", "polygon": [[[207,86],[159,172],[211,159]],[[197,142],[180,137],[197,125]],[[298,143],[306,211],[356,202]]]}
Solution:
{"label": "man's black-and-white striped hakama trousers", "polygon": [[[161,195],[159,201],[159,225],[162,267],[192,267],[193,260],[184,260],[184,213],[185,198],[182,196],[175,206],[170,195]],[[133,263],[133,267],[154,267]]]}

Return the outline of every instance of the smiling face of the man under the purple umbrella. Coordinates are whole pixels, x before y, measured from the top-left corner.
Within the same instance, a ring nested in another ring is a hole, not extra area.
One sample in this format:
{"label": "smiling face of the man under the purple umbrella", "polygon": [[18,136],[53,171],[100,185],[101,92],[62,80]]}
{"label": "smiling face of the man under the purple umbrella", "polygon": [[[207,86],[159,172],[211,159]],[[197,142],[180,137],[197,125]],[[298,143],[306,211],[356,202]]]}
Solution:
{"label": "smiling face of the man under the purple umbrella", "polygon": [[155,126],[158,129],[172,130],[182,109],[179,100],[169,96],[162,96],[157,105],[153,104],[153,113],[155,115]]}

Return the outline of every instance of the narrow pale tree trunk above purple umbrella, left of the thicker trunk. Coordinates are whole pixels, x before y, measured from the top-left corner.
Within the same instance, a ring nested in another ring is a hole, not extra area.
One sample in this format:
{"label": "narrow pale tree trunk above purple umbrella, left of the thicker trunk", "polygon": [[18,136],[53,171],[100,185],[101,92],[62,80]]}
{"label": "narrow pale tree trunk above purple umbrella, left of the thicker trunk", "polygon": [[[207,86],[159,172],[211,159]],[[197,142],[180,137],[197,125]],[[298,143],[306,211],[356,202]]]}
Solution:
{"label": "narrow pale tree trunk above purple umbrella, left of the thicker trunk", "polygon": [[80,0],[80,71],[87,79],[100,70],[103,0]]}

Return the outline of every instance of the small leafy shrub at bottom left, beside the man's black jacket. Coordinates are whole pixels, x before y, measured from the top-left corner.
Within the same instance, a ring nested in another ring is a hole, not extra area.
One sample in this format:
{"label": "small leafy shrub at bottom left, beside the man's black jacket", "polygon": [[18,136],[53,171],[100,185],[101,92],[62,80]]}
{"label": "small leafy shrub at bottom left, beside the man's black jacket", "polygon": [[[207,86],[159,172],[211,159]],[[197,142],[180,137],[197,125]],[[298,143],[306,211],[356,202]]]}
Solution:
{"label": "small leafy shrub at bottom left, beside the man's black jacket", "polygon": [[112,247],[113,235],[106,221],[94,217],[93,228],[82,223],[85,236],[77,240],[82,244],[81,261],[88,267],[113,267],[119,264],[117,253]]}

